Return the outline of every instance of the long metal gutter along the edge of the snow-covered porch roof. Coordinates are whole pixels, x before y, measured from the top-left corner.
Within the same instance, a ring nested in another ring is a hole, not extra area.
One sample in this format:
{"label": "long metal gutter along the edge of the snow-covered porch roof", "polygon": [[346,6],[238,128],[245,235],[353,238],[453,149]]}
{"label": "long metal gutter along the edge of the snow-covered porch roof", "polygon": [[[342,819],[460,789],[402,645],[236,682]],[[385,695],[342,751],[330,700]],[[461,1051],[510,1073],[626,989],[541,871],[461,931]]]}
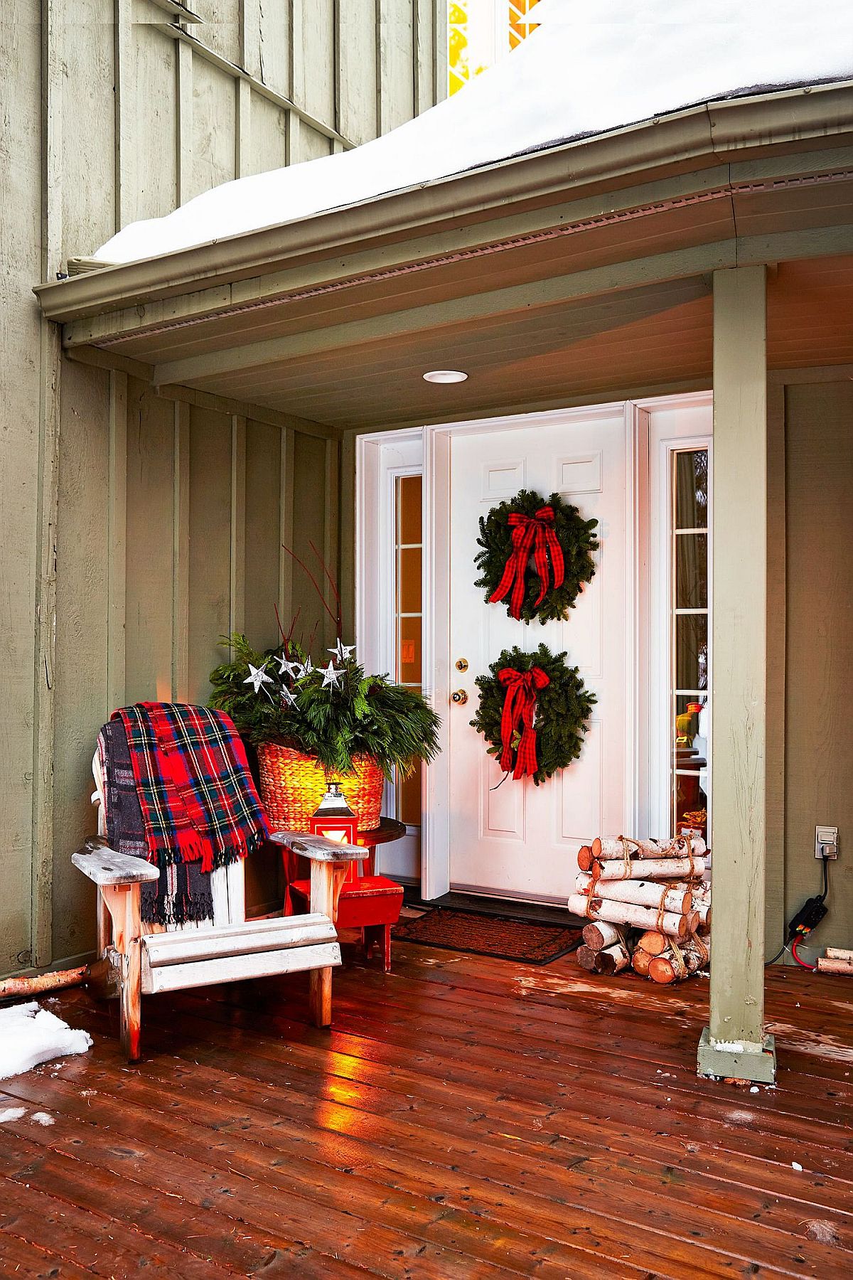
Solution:
{"label": "long metal gutter along the edge of the snow-covered porch roof", "polygon": [[[706,104],[611,133],[501,160],[299,221],[37,285],[47,319],[69,321],[155,298],[266,275],[442,228],[505,218],[638,180],[748,161],[767,148],[843,146],[853,137],[853,81]],[[483,234],[487,239],[487,233]]]}

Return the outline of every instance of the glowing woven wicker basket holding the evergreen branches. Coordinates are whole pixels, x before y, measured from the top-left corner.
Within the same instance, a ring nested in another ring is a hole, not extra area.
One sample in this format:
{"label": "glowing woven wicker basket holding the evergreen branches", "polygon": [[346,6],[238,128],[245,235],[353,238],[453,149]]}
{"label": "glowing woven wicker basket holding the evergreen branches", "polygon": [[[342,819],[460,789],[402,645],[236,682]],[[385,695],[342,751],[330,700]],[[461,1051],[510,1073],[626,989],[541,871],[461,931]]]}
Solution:
{"label": "glowing woven wicker basket holding the evergreen branches", "polygon": [[[261,800],[270,824],[286,831],[309,831],[309,819],[326,791],[326,773],[316,756],[278,742],[257,749]],[[357,755],[356,769],[341,777],[340,788],[356,814],[359,831],[375,831],[382,810],[385,774],[370,755]]]}

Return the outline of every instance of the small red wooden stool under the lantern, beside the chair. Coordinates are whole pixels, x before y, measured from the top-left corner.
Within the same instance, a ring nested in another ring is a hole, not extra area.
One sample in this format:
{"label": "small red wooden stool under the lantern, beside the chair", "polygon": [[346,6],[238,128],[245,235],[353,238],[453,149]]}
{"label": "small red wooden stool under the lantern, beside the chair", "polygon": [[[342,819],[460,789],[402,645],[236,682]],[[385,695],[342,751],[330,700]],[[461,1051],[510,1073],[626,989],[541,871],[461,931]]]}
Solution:
{"label": "small red wooden stool under the lantern, beside the chair", "polygon": [[[376,831],[358,833],[358,844],[364,845],[368,874],[362,876],[363,863],[349,863],[340,886],[336,911],[333,916],[339,929],[362,931],[362,945],[370,956],[375,945],[382,946],[385,973],[391,972],[391,925],[400,918],[403,886],[387,876],[372,876],[373,849],[389,840],[399,840],[405,826],[394,818],[382,818]],[[299,915],[309,910],[311,881],[298,879],[288,886],[285,914]]]}

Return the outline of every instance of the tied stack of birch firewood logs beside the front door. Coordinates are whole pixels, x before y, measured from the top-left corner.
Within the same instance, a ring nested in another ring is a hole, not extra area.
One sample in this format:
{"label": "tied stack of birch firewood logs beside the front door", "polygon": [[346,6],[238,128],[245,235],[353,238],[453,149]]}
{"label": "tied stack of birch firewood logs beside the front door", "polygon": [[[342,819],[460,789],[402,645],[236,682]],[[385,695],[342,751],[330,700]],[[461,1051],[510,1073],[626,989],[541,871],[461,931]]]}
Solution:
{"label": "tied stack of birch firewood logs beside the front door", "polygon": [[669,841],[602,837],[578,852],[569,910],[590,923],[578,963],[591,973],[629,965],[652,982],[682,982],[711,954],[708,858],[697,831]]}

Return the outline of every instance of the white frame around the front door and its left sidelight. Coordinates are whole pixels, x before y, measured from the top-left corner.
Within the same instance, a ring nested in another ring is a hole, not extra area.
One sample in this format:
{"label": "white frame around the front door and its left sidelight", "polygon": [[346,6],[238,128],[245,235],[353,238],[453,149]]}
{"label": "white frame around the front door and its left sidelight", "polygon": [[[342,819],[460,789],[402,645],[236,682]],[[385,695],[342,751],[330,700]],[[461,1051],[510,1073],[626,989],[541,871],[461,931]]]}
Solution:
{"label": "white frame around the front door and its left sidelight", "polygon": [[[653,415],[710,404],[710,392],[616,401],[542,413],[514,413],[463,422],[440,422],[400,431],[376,431],[356,442],[356,643],[359,659],[375,671],[393,669],[394,635],[391,576],[391,527],[394,479],[423,470],[423,692],[441,716],[440,754],[423,772],[423,824],[421,828],[421,893],[440,897],[450,888],[450,832],[448,810],[449,771],[448,708],[451,692],[450,599],[450,442],[454,435],[481,431],[510,431],[535,424],[560,425],[573,421],[624,415],[625,428],[625,796],[629,827],[648,835],[650,823],[660,820],[661,716],[669,704],[661,695],[660,666],[652,643],[659,609],[652,602],[661,564],[656,534],[661,512],[656,468],[650,475],[650,445],[657,444]],[[679,438],[679,447],[687,443]],[[652,444],[653,442],[653,444]],[[698,440],[697,440],[698,443]],[[666,539],[662,539],[666,541]],[[472,564],[468,566],[473,571]],[[389,785],[386,803],[393,804]]]}

